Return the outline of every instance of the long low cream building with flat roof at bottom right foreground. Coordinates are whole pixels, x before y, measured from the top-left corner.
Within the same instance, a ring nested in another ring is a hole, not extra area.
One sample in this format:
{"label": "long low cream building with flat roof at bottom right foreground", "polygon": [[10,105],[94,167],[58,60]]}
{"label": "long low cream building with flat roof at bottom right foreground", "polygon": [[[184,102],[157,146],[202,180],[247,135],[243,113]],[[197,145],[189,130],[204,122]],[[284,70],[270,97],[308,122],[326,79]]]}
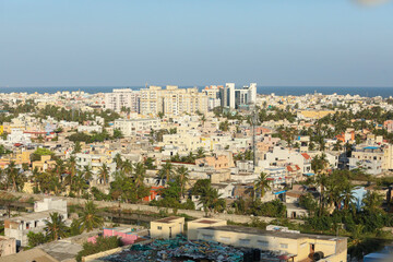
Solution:
{"label": "long low cream building with flat roof at bottom right foreground", "polygon": [[196,238],[217,241],[234,247],[255,248],[285,255],[286,261],[308,261],[310,257],[321,258],[322,262],[347,261],[347,239],[323,235],[299,234],[242,226],[215,226],[196,228]]}

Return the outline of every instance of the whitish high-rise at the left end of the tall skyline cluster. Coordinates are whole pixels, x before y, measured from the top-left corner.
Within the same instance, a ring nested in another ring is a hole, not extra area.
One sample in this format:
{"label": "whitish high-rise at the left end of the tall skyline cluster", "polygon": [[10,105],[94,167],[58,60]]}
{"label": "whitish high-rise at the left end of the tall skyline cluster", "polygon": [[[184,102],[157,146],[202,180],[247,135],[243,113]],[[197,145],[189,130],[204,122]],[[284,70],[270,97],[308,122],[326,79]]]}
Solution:
{"label": "whitish high-rise at the left end of the tall skyline cluster", "polygon": [[117,88],[112,93],[105,94],[105,108],[121,111],[130,108],[131,112],[140,111],[140,92],[131,88]]}

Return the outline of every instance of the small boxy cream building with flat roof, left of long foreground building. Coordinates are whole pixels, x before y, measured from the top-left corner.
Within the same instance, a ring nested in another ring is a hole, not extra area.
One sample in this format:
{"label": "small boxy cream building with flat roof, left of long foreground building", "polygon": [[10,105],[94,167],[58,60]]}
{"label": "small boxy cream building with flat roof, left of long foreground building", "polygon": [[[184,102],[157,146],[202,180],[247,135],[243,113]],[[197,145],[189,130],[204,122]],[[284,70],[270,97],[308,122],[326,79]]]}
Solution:
{"label": "small boxy cream building with flat roof, left of long foreground building", "polygon": [[151,238],[175,238],[184,230],[184,217],[170,216],[151,222]]}

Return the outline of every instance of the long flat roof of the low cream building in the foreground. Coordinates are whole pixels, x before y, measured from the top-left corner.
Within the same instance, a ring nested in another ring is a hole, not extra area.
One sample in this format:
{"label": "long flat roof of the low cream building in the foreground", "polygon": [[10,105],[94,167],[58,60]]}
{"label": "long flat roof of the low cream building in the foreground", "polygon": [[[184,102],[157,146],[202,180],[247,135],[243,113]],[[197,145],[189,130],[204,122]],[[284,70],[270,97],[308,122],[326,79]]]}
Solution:
{"label": "long flat roof of the low cream building in the foreground", "polygon": [[296,233],[286,233],[286,231],[271,231],[259,229],[254,227],[243,227],[243,226],[217,226],[217,227],[204,227],[200,229],[209,229],[214,231],[234,231],[234,233],[242,233],[258,236],[272,236],[272,237],[281,237],[281,238],[290,238],[290,239],[301,239],[301,238],[314,238],[314,239],[323,239],[336,241],[340,239],[345,239],[344,237],[335,237],[335,236],[326,236],[326,235],[312,235],[312,234],[296,234]]}

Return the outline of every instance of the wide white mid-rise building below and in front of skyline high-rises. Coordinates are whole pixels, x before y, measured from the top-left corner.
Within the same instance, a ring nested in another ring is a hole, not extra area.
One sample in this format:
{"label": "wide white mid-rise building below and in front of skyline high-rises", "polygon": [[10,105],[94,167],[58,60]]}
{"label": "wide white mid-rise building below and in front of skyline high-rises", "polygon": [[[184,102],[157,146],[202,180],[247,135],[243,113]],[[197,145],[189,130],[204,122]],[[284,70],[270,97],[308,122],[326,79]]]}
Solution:
{"label": "wide white mid-rise building below and in front of skyline high-rises", "polygon": [[117,119],[115,120],[115,129],[119,129],[124,136],[148,133],[151,130],[160,129],[160,119]]}

